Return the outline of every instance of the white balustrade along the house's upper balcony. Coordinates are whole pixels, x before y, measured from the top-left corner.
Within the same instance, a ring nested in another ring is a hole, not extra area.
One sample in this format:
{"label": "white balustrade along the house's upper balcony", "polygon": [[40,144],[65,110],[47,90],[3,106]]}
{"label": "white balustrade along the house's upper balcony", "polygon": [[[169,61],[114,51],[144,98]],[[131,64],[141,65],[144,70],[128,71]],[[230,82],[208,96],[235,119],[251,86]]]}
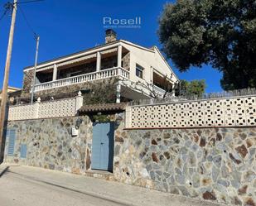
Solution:
{"label": "white balustrade along the house's upper balcony", "polygon": [[53,89],[58,87],[67,86],[70,84],[80,84],[84,82],[89,82],[97,79],[106,79],[111,77],[123,77],[125,79],[129,79],[129,72],[126,69],[114,67],[111,69],[104,69],[98,72],[91,72],[88,74],[81,74],[74,77],[69,77],[65,79],[58,79],[51,82],[46,82],[43,84],[35,85],[35,92],[45,90],[45,89]]}

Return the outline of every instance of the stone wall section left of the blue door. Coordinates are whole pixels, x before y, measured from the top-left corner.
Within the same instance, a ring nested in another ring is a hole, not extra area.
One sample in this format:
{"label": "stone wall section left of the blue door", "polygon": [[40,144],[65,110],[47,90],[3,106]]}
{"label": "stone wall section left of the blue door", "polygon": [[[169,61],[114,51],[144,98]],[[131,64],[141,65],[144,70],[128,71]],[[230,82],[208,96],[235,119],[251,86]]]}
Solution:
{"label": "stone wall section left of the blue door", "polygon": [[[83,173],[86,170],[86,152],[91,147],[91,122],[89,117],[82,117],[78,137],[71,136],[71,127],[78,117],[49,118],[8,122],[8,129],[16,130],[16,144],[13,156],[7,156],[8,139],[4,161]],[[21,144],[27,144],[27,158],[21,158]]]}

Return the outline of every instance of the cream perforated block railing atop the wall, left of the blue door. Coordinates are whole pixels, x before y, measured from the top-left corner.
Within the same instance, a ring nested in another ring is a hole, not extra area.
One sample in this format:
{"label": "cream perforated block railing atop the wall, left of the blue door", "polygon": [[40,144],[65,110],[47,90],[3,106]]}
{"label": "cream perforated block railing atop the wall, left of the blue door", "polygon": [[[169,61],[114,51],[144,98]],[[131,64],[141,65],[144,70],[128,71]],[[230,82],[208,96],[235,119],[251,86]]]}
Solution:
{"label": "cream perforated block railing atop the wall, left of the blue door", "polygon": [[81,93],[75,98],[63,98],[54,101],[42,102],[38,98],[36,103],[21,104],[8,108],[8,121],[73,117],[83,105]]}

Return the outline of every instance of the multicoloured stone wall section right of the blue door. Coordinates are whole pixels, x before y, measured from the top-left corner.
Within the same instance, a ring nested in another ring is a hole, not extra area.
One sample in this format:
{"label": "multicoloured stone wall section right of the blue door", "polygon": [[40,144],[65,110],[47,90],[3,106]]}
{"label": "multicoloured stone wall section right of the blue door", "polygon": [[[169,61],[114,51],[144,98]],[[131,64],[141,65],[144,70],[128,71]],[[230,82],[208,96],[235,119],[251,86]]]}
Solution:
{"label": "multicoloured stone wall section right of the blue door", "polygon": [[116,132],[123,183],[224,204],[256,205],[256,128]]}

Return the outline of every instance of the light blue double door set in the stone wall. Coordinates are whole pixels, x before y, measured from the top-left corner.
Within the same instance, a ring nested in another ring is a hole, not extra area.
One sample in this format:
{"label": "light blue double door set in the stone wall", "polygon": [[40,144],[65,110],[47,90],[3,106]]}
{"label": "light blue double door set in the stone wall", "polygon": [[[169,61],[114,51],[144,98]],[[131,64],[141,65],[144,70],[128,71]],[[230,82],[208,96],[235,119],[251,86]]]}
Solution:
{"label": "light blue double door set in the stone wall", "polygon": [[113,170],[114,122],[97,122],[93,127],[92,169]]}

